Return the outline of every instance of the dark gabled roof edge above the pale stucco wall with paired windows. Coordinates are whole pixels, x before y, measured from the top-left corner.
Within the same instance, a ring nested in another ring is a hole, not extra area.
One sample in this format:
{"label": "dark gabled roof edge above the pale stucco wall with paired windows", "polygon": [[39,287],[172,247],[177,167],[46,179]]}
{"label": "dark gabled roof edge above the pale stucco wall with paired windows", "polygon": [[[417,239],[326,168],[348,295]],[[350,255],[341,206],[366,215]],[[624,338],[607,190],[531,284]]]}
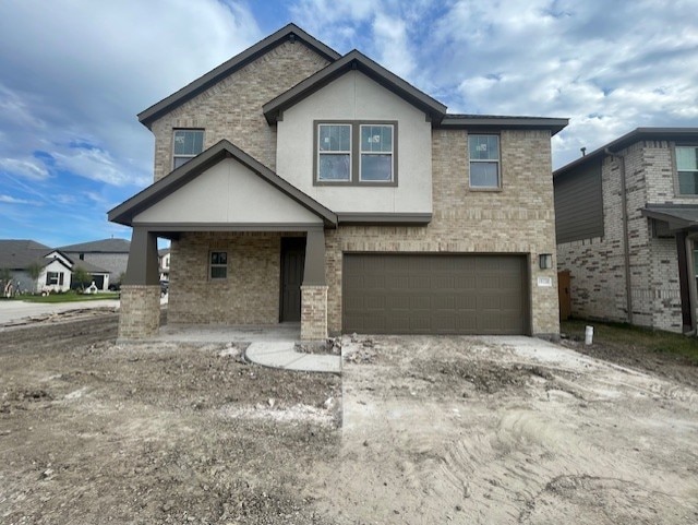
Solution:
{"label": "dark gabled roof edge above the pale stucco wall with paired windows", "polygon": [[440,122],[446,114],[446,106],[442,103],[354,49],[266,103],[262,109],[267,122],[272,124],[280,120],[285,109],[296,105],[350,70],[361,71],[373,81],[428,114],[434,121]]}

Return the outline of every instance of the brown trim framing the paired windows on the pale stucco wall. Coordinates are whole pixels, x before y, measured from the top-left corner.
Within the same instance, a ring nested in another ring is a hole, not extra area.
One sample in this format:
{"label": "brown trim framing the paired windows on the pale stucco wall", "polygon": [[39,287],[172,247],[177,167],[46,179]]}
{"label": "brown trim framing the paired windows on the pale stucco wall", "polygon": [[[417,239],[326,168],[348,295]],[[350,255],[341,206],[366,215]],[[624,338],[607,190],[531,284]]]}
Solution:
{"label": "brown trim framing the paired windows on the pale stucco wall", "polygon": [[[351,127],[351,171],[349,180],[320,180],[320,126],[321,124],[349,124]],[[362,126],[390,126],[393,127],[393,180],[361,180],[361,127]],[[313,120],[313,186],[352,186],[370,188],[394,188],[398,186],[398,121],[397,120]]]}

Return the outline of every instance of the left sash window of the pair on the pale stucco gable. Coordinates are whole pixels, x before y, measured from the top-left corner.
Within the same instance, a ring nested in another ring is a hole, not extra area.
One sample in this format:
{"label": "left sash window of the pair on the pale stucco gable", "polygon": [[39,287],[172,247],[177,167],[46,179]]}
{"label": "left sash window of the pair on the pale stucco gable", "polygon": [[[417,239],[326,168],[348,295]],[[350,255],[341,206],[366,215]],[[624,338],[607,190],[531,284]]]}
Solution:
{"label": "left sash window of the pair on the pale stucco gable", "polygon": [[317,180],[351,180],[351,124],[318,124]]}

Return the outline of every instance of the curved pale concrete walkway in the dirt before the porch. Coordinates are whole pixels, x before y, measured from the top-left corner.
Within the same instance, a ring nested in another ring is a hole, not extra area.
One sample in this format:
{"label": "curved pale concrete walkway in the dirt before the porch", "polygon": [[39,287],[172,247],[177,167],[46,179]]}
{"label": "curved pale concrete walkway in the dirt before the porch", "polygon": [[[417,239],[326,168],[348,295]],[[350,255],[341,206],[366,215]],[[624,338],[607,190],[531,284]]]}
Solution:
{"label": "curved pale concrete walkway in the dirt before the porch", "polygon": [[296,351],[296,344],[287,341],[252,343],[244,353],[246,359],[257,365],[304,372],[341,372],[341,357],[327,354]]}

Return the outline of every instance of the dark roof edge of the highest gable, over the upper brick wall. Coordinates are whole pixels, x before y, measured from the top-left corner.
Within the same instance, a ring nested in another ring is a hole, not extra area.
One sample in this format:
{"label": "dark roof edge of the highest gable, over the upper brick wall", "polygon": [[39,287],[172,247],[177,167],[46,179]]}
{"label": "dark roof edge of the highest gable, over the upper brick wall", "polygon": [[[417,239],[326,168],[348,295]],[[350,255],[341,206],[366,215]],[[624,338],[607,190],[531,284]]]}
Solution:
{"label": "dark roof edge of the highest gable, over the upper brick wall", "polygon": [[220,82],[222,79],[242,69],[250,62],[253,62],[286,40],[300,41],[330,62],[334,62],[341,57],[337,51],[309,35],[296,24],[288,24],[273,35],[267,36],[254,46],[221,63],[203,76],[200,76],[167,98],[164,98],[159,103],[154,104],[149,108],[140,112],[139,121],[146,128],[151,129],[151,124],[163,115],[194,98],[200,93],[208,90],[212,85]]}

